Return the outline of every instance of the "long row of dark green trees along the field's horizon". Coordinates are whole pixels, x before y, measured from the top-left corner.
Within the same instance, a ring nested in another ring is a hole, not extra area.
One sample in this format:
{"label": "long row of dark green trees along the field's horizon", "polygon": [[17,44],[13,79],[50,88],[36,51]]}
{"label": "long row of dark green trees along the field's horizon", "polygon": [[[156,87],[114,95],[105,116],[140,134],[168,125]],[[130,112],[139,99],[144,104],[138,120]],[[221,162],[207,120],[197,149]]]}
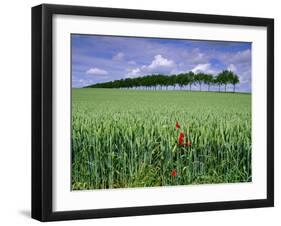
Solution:
{"label": "long row of dark green trees along the field's horizon", "polygon": [[192,71],[187,73],[180,73],[177,75],[162,75],[153,74],[136,78],[126,78],[110,82],[97,83],[87,88],[141,88],[141,89],[154,89],[157,88],[162,90],[163,88],[168,89],[168,87],[179,86],[180,89],[189,86],[191,90],[192,85],[199,85],[200,91],[202,85],[208,86],[208,91],[210,91],[211,85],[216,85],[219,87],[219,92],[221,91],[221,86],[224,85],[224,90],[226,92],[227,84],[233,85],[233,92],[235,92],[235,86],[239,83],[239,77],[230,70],[223,70],[216,76],[206,73],[193,73]]}

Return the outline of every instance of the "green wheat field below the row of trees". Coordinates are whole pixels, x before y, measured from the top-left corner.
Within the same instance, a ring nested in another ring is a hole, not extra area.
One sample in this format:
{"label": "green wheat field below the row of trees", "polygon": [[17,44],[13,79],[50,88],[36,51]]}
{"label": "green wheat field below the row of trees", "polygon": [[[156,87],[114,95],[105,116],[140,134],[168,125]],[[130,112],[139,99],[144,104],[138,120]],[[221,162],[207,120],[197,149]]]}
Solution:
{"label": "green wheat field below the row of trees", "polygon": [[73,190],[249,181],[250,94],[73,89]]}

